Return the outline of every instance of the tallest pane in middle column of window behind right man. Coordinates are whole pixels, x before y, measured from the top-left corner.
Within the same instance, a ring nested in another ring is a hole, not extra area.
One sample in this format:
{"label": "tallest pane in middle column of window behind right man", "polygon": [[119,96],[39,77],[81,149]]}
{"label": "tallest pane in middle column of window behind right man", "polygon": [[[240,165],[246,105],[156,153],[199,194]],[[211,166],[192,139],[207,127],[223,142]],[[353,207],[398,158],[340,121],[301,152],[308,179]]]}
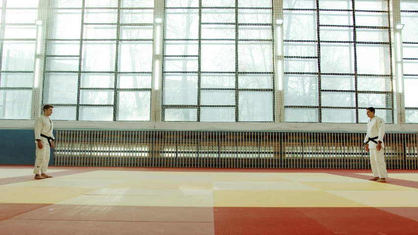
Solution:
{"label": "tallest pane in middle column of window behind right man", "polygon": [[320,61],[323,73],[354,73],[353,44],[321,43]]}

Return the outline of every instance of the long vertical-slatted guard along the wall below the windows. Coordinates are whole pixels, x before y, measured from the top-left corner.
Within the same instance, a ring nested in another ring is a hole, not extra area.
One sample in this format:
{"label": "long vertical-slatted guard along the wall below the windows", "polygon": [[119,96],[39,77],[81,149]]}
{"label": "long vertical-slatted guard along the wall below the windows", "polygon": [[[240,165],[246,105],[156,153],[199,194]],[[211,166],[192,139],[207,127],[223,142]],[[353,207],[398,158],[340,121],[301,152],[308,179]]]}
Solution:
{"label": "long vertical-slatted guard along the wall below the windows", "polygon": [[[364,133],[58,130],[55,165],[367,169]],[[418,134],[385,135],[389,169],[418,169]]]}

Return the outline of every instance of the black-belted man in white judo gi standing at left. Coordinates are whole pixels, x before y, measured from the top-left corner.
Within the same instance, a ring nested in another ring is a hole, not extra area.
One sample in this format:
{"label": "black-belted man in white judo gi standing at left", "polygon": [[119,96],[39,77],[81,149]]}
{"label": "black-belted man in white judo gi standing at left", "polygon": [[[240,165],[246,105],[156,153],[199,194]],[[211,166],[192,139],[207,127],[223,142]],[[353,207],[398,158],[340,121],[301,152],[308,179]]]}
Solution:
{"label": "black-belted man in white judo gi standing at left", "polygon": [[53,124],[49,116],[52,114],[52,105],[44,105],[44,115],[35,120],[35,142],[36,142],[36,160],[35,179],[52,178],[47,175],[49,163],[49,150],[54,147],[54,135],[52,134]]}

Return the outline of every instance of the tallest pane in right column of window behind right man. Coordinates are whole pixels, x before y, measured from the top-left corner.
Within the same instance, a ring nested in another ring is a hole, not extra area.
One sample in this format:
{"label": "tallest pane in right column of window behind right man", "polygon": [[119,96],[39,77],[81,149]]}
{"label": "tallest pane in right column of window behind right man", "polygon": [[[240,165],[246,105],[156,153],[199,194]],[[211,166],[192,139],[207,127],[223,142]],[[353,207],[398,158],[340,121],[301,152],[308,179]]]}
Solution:
{"label": "tallest pane in right column of window behind right man", "polygon": [[389,45],[357,45],[359,74],[391,74]]}

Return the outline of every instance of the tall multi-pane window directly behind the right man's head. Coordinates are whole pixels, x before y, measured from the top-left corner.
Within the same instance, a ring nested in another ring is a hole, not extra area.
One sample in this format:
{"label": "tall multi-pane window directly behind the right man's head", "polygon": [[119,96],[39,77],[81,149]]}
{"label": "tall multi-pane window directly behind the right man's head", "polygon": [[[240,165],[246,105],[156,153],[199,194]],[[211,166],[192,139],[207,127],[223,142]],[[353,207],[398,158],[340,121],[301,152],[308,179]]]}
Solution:
{"label": "tall multi-pane window directly behind the right man's head", "polygon": [[393,122],[386,0],[284,0],[285,121]]}

